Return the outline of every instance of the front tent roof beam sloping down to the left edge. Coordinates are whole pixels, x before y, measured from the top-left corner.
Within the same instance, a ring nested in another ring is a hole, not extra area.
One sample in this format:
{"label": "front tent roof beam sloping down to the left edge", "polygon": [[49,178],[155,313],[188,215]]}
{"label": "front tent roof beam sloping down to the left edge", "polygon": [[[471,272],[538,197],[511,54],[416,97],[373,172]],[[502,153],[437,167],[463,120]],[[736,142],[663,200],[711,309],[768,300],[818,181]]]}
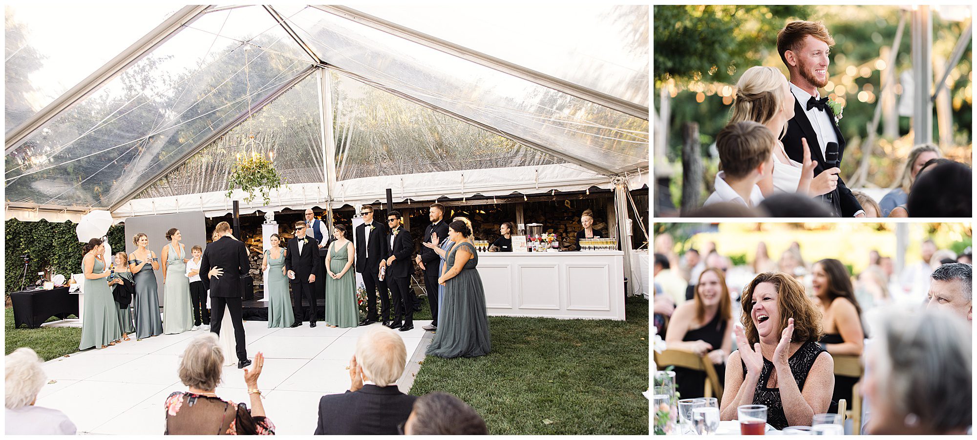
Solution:
{"label": "front tent roof beam sloping down to the left edge", "polygon": [[184,25],[193,22],[198,17],[205,14],[208,5],[191,5],[177,11],[154,29],[150,30],[146,36],[140,38],[131,46],[116,55],[104,66],[99,67],[94,73],[88,75],[74,87],[71,87],[54,102],[34,113],[26,120],[21,122],[17,128],[7,133],[4,142],[6,143],[6,154],[11,154],[21,146],[21,142],[35,131],[48,123],[68,107],[84,99],[88,94],[105,85],[108,81],[122,72],[126,67],[132,66],[153,49],[168,40]]}

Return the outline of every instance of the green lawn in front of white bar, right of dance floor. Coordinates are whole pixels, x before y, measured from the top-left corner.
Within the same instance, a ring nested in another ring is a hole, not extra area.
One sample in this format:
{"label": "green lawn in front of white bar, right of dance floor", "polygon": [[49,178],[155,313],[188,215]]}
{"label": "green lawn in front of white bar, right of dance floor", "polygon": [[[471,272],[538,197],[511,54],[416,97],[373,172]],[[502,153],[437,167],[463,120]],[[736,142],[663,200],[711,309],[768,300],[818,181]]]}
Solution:
{"label": "green lawn in front of white bar, right of dance floor", "polygon": [[648,300],[627,321],[488,318],[491,353],[429,356],[410,394],[445,391],[490,434],[648,434]]}

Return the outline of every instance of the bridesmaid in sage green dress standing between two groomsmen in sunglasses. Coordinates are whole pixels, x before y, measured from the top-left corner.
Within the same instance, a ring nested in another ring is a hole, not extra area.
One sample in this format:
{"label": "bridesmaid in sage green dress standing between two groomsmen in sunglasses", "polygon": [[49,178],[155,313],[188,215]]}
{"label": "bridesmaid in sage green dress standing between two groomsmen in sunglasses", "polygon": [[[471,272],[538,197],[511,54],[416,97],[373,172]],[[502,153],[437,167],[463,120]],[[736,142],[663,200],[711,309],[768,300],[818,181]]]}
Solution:
{"label": "bridesmaid in sage green dress standing between two groomsmen in sunglasses", "polygon": [[325,257],[325,325],[351,328],[360,325],[360,308],[354,288],[357,277],[350,269],[356,251],[353,242],[346,240],[346,227],[335,225],[332,229],[335,242],[329,244]]}

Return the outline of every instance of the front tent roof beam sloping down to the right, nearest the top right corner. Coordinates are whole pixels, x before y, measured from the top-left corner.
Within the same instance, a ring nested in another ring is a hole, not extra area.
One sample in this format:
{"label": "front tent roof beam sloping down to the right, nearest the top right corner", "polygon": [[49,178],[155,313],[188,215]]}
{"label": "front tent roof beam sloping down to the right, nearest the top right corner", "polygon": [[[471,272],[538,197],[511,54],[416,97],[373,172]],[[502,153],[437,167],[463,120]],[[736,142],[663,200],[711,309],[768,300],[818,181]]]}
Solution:
{"label": "front tent roof beam sloping down to the right, nearest the top right corner", "polygon": [[386,20],[364,14],[353,8],[331,5],[312,5],[312,7],[322,12],[342,17],[353,22],[359,22],[363,25],[382,30],[392,35],[397,35],[406,40],[413,41],[414,43],[421,44],[432,49],[437,49],[446,54],[450,54],[482,66],[487,66],[489,68],[529,80],[541,86],[558,90],[576,98],[599,104],[608,109],[614,109],[622,113],[630,114],[634,117],[640,117],[648,120],[648,107],[646,106],[634,104],[630,101],[622,100],[603,92],[582,87],[570,81],[547,75],[545,73],[540,73],[530,68],[514,65],[481,52],[473,51],[446,40],[404,27],[400,24],[388,22]]}

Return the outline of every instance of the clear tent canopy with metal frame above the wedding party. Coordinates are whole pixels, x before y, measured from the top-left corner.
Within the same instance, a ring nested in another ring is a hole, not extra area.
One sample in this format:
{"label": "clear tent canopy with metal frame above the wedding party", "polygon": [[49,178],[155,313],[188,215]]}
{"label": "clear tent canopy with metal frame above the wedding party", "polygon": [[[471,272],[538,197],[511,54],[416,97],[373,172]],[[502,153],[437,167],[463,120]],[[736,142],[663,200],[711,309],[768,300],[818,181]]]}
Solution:
{"label": "clear tent canopy with metal frame above the wedding party", "polygon": [[8,209],[217,200],[241,154],[274,159],[277,205],[647,183],[647,6],[130,6],[162,24],[107,47],[104,11],[65,41],[31,8],[6,7]]}

